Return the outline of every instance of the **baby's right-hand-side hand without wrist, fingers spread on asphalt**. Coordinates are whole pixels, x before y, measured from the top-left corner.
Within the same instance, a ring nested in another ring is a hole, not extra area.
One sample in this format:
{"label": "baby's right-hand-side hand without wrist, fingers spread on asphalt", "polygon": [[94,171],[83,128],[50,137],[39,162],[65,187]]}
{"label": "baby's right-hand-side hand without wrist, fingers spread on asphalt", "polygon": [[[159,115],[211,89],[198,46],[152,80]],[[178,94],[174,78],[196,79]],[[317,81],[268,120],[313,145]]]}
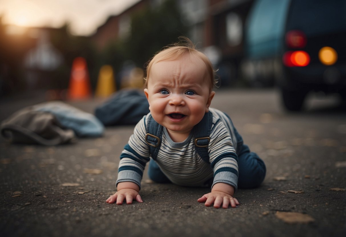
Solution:
{"label": "baby's right-hand-side hand without wrist, fingers spread on asphalt", "polygon": [[239,205],[239,202],[236,198],[221,191],[211,191],[207,194],[204,194],[197,201],[206,202],[205,205],[207,207],[210,207],[212,203],[214,203],[215,208],[221,207],[221,204],[222,208],[228,208],[229,205],[231,205],[231,207],[237,207],[237,205]]}

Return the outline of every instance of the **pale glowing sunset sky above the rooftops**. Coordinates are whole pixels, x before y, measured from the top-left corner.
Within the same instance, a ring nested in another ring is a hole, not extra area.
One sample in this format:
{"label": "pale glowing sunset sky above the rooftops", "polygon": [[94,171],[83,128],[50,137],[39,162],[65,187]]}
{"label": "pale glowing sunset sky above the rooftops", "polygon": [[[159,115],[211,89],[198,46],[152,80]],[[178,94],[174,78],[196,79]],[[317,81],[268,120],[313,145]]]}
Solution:
{"label": "pale glowing sunset sky above the rooftops", "polygon": [[109,16],[118,15],[140,0],[0,0],[2,23],[31,27],[61,27],[89,36]]}

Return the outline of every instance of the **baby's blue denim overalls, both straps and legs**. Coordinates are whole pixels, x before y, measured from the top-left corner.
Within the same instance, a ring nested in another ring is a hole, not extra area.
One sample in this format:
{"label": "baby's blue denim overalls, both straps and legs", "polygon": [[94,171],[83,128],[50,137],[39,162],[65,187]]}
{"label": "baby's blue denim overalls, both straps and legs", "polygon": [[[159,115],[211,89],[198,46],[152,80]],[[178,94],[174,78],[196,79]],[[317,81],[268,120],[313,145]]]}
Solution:
{"label": "baby's blue denim overalls, both straps and legs", "polygon": [[[243,143],[243,138],[235,129],[230,117],[227,114],[225,115],[232,126],[228,129],[230,133],[233,133],[231,137],[233,140],[236,140],[234,143],[238,155],[238,188],[257,188],[265,178],[265,164],[256,153],[250,152],[249,147]],[[147,120],[147,134],[145,140],[150,147],[152,157],[149,162],[148,176],[157,183],[170,183],[171,181],[165,176],[155,161],[158,150],[160,149],[163,126],[158,124],[151,115],[147,116]],[[204,115],[202,121],[195,125],[193,129],[195,149],[200,157],[207,163],[209,163],[208,144],[210,140],[211,125],[212,113],[208,112]]]}

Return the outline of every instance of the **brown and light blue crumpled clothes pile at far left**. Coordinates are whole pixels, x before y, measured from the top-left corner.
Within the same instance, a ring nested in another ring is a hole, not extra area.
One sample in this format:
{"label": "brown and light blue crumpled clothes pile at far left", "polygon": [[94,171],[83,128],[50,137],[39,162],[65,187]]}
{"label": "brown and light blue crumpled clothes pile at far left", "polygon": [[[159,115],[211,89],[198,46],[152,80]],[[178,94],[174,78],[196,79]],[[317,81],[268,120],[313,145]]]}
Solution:
{"label": "brown and light blue crumpled clothes pile at far left", "polygon": [[103,124],[90,113],[61,101],[27,106],[0,125],[1,135],[12,143],[58,145],[78,137],[103,135]]}

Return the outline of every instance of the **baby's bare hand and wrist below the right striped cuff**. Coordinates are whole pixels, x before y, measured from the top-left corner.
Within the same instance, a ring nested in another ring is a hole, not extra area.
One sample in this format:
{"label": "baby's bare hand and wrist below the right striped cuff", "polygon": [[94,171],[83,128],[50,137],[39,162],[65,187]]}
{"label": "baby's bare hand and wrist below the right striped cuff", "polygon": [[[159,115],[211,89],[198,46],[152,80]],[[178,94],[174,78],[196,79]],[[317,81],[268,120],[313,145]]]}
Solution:
{"label": "baby's bare hand and wrist below the right striped cuff", "polygon": [[199,198],[198,202],[206,202],[205,205],[207,207],[211,206],[214,203],[215,208],[221,207],[228,208],[229,205],[231,207],[237,207],[239,202],[234,195],[234,187],[227,183],[216,183],[214,184],[211,192],[204,194],[201,198]]}

